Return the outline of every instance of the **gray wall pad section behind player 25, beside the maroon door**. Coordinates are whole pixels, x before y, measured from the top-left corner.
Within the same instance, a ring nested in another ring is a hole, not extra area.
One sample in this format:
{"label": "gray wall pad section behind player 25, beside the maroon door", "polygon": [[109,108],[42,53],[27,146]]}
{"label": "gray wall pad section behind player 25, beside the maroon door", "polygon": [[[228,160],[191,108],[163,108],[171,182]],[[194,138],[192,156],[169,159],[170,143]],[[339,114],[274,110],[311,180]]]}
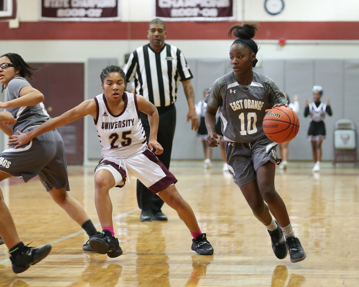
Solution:
{"label": "gray wall pad section behind player 25, beside the maroon door", "polygon": [[[118,65],[116,58],[90,58],[87,61],[86,75],[87,75],[87,93],[85,100],[93,99],[97,95],[103,93],[101,89],[100,74],[104,68],[109,65]],[[85,158],[88,160],[101,159],[101,144],[98,140],[96,127],[91,116],[85,117],[85,141],[87,142],[87,150]]]}

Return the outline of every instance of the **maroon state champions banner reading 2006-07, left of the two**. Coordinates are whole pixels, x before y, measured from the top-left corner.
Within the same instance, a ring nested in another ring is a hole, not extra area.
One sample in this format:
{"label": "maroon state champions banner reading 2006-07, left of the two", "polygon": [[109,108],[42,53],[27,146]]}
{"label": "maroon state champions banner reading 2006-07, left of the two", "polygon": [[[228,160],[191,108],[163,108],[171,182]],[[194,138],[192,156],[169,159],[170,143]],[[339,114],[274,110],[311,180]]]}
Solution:
{"label": "maroon state champions banner reading 2006-07, left of the two", "polygon": [[120,20],[120,0],[39,0],[40,20]]}

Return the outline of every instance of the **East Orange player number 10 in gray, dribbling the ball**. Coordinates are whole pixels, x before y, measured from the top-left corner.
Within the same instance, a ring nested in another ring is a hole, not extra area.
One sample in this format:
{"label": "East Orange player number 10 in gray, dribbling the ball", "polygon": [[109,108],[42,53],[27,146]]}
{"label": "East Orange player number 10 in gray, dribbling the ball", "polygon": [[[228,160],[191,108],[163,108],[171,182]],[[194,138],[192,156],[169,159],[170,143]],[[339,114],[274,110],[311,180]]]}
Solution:
{"label": "East Orange player number 10 in gray, dribbling the ball", "polygon": [[288,101],[273,80],[252,70],[257,62],[258,46],[252,40],[257,25],[234,25],[229,36],[233,30],[237,37],[229,51],[233,71],[217,79],[205,98],[207,142],[212,147],[219,144],[215,115],[220,108],[227,165],[233,181],[253,214],[267,227],[276,257],[284,259],[289,250],[290,261],[299,262],[306,258],[306,253],[294,236],[285,204],[274,187],[275,165],[281,161],[277,158],[277,143],[265,136],[262,127],[267,110]]}

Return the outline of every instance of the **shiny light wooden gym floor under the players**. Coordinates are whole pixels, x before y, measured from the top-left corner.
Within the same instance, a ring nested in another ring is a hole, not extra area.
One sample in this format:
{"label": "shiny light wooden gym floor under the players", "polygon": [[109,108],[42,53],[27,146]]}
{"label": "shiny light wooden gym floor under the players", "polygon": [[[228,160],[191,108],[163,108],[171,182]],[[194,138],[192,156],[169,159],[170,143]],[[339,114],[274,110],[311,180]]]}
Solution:
{"label": "shiny light wooden gym floor under the players", "polygon": [[[136,181],[113,188],[115,233],[123,255],[108,258],[85,252],[82,229],[52,202],[38,179],[1,184],[20,238],[31,246],[52,244],[50,255],[14,274],[5,245],[0,246],[0,286],[359,286],[359,171],[347,165],[290,163],[277,169],[276,189],[286,203],[295,234],[307,258],[291,263],[275,257],[265,227],[253,216],[222,164],[204,170],[202,161],[174,161],[171,171],[192,206],[215,253],[191,249],[191,236],[176,212],[168,222],[140,222]],[[70,166],[71,195],[83,204],[94,224],[93,167]]]}

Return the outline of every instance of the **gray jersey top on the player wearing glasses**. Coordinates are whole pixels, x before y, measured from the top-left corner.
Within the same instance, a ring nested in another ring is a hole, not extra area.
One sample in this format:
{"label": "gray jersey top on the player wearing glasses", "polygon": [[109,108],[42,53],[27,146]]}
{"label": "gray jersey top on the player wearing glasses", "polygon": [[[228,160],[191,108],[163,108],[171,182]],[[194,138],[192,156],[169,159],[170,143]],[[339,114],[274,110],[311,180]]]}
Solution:
{"label": "gray jersey top on the player wearing glasses", "polygon": [[[8,94],[6,102],[17,99],[19,92],[24,86],[31,86],[23,77],[15,77],[8,84]],[[43,103],[26,107],[6,108],[16,119],[16,124],[12,124],[13,133],[17,130],[25,131],[27,128],[39,126],[50,119]]]}

